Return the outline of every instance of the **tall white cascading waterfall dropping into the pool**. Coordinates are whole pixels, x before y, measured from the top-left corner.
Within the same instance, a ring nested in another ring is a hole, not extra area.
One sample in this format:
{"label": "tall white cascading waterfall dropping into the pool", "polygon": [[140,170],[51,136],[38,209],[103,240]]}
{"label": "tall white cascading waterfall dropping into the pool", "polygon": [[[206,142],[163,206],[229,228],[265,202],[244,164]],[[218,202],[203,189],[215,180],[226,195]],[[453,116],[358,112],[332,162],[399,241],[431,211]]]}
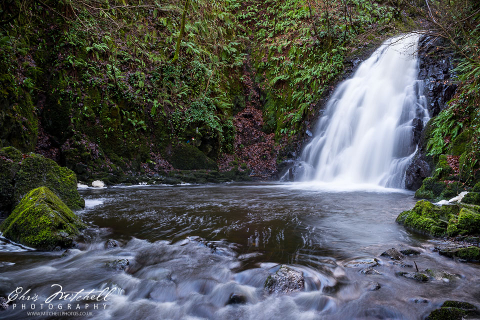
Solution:
{"label": "tall white cascading waterfall dropping into the pool", "polygon": [[326,104],[295,180],[404,187],[412,122],[428,112],[417,79],[418,35],[385,41]]}

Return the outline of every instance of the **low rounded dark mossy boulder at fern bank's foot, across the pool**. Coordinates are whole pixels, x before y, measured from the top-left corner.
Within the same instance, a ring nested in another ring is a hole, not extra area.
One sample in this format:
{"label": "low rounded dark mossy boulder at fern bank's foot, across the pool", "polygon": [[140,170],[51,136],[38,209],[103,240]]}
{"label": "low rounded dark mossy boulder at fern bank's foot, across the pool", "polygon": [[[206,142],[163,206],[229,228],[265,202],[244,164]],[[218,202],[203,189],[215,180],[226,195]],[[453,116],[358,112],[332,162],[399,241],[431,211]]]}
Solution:
{"label": "low rounded dark mossy boulder at fern bank's foot, across the pool", "polygon": [[170,163],[174,168],[181,170],[217,169],[215,161],[190,144],[179,144],[174,147]]}

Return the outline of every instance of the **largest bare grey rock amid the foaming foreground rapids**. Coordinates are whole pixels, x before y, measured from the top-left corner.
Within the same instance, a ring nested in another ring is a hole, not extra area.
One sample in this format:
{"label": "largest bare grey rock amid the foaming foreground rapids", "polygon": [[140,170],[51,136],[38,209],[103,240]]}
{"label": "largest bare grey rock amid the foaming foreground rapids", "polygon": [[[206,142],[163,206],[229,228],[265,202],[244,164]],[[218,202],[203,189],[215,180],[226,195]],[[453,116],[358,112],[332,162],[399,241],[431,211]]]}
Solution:
{"label": "largest bare grey rock amid the foaming foreground rapids", "polygon": [[269,275],[264,284],[264,288],[269,292],[298,292],[303,290],[305,279],[303,273],[293,270],[289,266],[282,264],[273,275]]}

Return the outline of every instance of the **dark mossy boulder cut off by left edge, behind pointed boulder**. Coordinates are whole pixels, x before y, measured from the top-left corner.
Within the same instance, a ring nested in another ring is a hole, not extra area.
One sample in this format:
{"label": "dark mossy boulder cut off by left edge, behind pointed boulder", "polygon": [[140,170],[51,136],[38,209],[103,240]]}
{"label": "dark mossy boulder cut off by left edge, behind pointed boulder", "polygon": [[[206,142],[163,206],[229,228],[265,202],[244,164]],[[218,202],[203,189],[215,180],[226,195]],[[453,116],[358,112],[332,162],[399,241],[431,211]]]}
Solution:
{"label": "dark mossy boulder cut off by left edge, behind pointed boulder", "polygon": [[0,212],[8,211],[15,203],[13,179],[21,160],[22,153],[14,147],[0,149]]}

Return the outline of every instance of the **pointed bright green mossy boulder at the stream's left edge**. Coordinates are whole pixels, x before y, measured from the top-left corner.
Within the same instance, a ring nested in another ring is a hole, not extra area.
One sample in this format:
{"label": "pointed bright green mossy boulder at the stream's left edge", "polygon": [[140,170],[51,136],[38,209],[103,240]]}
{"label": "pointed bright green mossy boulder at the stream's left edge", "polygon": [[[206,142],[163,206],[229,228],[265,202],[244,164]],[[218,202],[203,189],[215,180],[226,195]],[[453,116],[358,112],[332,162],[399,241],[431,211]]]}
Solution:
{"label": "pointed bright green mossy boulder at the stream's left edge", "polygon": [[67,248],[86,225],[49,188],[30,190],[0,224],[6,238],[40,250]]}

